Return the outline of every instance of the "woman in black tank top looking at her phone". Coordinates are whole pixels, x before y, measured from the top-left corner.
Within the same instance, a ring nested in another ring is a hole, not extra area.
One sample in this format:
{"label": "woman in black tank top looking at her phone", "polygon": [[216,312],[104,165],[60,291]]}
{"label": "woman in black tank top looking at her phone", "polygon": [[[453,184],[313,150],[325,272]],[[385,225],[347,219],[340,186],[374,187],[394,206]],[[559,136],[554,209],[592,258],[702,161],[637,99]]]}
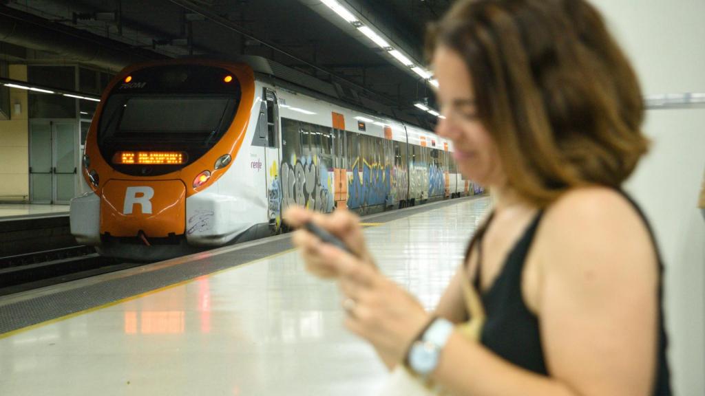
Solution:
{"label": "woman in black tank top looking at her phone", "polygon": [[[661,261],[619,190],[648,145],[642,97],[599,13],[582,0],[460,1],[428,42],[437,132],[494,211],[430,314],[376,271],[355,216],[290,209],[290,223],[354,253],[293,236],[307,268],[340,283],[345,325],[453,395],[670,395]],[[450,326],[467,320],[466,278],[486,311],[479,342]]]}

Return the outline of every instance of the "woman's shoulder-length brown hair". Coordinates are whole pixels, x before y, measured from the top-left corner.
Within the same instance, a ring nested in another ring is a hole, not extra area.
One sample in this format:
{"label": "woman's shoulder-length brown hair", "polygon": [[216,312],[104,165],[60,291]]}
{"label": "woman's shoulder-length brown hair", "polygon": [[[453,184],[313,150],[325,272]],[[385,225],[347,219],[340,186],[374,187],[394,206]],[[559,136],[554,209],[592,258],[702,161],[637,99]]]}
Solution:
{"label": "woman's shoulder-length brown hair", "polygon": [[584,0],[462,0],[429,27],[456,51],[508,182],[546,206],[570,187],[619,187],[649,142],[636,75]]}

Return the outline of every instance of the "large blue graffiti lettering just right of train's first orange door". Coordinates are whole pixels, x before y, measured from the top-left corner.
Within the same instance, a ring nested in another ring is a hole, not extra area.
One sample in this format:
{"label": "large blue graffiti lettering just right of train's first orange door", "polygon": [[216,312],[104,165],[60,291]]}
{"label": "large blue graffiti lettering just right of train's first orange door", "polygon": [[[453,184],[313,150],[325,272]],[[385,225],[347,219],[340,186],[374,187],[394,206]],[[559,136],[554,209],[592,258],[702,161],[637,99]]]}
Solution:
{"label": "large blue graffiti lettering just right of train's first orange door", "polygon": [[391,191],[391,168],[380,163],[370,165],[360,159],[353,165],[352,175],[348,178],[348,206],[382,205]]}

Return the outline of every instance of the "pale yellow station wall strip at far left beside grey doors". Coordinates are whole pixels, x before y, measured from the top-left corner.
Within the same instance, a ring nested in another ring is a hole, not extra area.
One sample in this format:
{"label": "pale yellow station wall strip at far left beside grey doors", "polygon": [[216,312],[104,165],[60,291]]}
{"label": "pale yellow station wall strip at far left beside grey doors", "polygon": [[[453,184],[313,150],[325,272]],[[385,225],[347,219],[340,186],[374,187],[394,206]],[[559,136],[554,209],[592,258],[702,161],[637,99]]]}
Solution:
{"label": "pale yellow station wall strip at far left beside grey doors", "polygon": [[[27,81],[27,66],[10,65],[9,78]],[[20,104],[20,113],[15,104]],[[27,91],[10,89],[10,120],[0,120],[0,202],[28,201],[29,123]]]}

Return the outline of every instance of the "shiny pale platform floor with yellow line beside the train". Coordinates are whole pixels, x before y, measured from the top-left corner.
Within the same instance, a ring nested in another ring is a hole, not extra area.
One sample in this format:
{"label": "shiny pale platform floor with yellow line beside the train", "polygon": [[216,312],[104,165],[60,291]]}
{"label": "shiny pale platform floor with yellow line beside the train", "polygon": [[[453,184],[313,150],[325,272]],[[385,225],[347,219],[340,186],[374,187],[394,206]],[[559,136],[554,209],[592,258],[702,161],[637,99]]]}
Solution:
{"label": "shiny pale platform floor with yellow line beside the train", "polygon": [[[363,219],[381,271],[433,309],[489,210]],[[0,297],[0,395],[374,395],[386,369],[289,235]]]}

